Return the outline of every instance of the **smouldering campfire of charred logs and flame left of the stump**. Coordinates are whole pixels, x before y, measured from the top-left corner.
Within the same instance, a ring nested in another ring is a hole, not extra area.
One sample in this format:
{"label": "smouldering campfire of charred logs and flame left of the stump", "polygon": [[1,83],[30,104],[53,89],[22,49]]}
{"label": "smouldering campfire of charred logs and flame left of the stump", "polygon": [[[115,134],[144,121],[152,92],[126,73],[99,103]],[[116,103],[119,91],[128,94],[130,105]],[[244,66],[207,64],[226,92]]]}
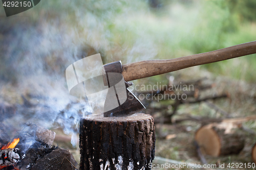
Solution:
{"label": "smouldering campfire of charred logs and flame left of the stump", "polygon": [[[0,124],[0,169],[76,169],[76,161],[68,150],[55,147],[55,132],[27,123],[21,132],[8,142],[5,125]],[[62,168],[61,168],[62,167]]]}

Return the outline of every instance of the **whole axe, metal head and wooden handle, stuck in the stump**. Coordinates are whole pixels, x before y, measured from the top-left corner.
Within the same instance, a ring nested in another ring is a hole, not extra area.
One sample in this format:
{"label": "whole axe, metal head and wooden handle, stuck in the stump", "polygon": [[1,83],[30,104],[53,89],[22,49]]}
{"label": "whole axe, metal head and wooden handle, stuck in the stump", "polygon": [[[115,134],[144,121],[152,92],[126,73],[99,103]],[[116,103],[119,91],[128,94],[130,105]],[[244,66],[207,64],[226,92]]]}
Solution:
{"label": "whole axe, metal head and wooden handle, stuck in the stump", "polygon": [[[234,45],[226,48],[222,48],[220,50],[195,54],[186,57],[180,57],[169,60],[144,60],[129,64],[121,64],[121,61],[116,61],[103,65],[103,82],[104,85],[113,86],[114,84],[110,84],[107,74],[114,72],[122,74],[122,76],[116,76],[116,81],[118,82],[121,79],[124,79],[124,83],[126,86],[126,97],[127,100],[119,104],[119,107],[115,109],[104,112],[104,117],[110,116],[128,116],[139,112],[145,107],[143,104],[136,98],[136,96],[127,89],[127,87],[131,86],[133,83],[129,83],[128,81],[142,79],[146,77],[156,76],[165,74],[167,72],[172,72],[176,70],[180,70],[183,68],[188,68],[196,65],[214,63],[222,60],[227,60],[231,58],[246,56],[250,54],[256,53],[256,41],[247,42],[239,45]],[[115,89],[116,91],[116,89]],[[113,96],[113,95],[112,95]],[[116,93],[117,100],[121,99],[123,96],[118,96]],[[108,99],[108,94],[107,94]],[[108,108],[108,105],[111,105],[111,100],[106,100],[104,104],[104,108]],[[118,102],[119,103],[119,102]]]}

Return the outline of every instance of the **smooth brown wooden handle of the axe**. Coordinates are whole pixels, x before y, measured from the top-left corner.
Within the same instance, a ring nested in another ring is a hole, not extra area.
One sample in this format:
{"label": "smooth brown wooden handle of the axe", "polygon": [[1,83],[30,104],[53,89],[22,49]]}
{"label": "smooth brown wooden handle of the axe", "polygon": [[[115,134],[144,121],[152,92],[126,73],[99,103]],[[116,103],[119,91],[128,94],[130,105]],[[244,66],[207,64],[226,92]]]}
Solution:
{"label": "smooth brown wooden handle of the axe", "polygon": [[234,45],[220,50],[195,54],[169,60],[144,60],[122,65],[122,75],[125,81],[161,75],[179,69],[196,65],[214,63],[217,61],[246,56],[256,53],[256,41]]}

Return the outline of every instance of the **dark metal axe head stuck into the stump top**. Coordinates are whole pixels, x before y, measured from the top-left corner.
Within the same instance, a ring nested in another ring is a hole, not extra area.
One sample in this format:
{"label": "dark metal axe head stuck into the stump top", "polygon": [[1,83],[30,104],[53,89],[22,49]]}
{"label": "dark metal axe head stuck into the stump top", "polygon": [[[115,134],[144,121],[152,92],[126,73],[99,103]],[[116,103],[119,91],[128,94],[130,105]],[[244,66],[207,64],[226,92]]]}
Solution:
{"label": "dark metal axe head stuck into the stump top", "polygon": [[138,98],[127,89],[133,83],[124,81],[121,61],[105,64],[102,70],[104,85],[109,86],[104,103],[104,117],[128,116],[145,109]]}

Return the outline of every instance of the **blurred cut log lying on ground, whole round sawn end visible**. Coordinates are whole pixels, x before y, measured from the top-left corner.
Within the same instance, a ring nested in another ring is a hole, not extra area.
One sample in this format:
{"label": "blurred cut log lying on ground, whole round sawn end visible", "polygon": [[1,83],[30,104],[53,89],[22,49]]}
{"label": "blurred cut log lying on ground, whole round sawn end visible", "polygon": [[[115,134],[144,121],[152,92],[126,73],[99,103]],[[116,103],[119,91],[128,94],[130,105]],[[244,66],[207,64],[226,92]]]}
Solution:
{"label": "blurred cut log lying on ground, whole round sawn end visible", "polygon": [[245,135],[239,130],[239,125],[230,122],[202,126],[195,139],[202,153],[215,157],[239,154],[245,144]]}

